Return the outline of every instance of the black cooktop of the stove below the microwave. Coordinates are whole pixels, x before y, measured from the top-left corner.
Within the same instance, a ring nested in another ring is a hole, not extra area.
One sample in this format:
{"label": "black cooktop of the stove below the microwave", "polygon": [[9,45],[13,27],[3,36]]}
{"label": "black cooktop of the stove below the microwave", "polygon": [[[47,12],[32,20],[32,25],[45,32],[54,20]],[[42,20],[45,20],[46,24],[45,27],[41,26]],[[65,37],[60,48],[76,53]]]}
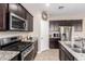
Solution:
{"label": "black cooktop of the stove below the microwave", "polygon": [[1,47],[1,50],[9,50],[9,51],[24,51],[25,49],[29,48],[32,43],[31,42],[15,42],[9,46]]}

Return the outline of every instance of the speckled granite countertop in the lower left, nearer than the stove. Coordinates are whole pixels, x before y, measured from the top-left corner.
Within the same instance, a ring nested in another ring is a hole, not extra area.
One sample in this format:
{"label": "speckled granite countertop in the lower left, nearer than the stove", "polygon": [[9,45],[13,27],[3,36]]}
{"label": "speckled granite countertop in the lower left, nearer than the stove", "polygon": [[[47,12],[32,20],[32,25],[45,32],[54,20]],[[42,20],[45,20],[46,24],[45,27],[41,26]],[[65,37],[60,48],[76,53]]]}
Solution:
{"label": "speckled granite countertop in the lower left, nearer than the stove", "polygon": [[0,61],[10,61],[17,54],[19,54],[19,52],[17,52],[17,51],[2,51],[2,50],[0,50]]}

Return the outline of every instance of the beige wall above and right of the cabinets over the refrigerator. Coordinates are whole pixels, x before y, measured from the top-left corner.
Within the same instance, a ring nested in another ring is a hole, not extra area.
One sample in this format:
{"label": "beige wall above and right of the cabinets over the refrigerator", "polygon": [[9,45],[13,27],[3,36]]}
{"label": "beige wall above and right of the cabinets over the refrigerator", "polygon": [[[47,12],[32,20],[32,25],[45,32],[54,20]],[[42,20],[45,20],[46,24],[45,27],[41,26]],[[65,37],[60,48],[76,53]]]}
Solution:
{"label": "beige wall above and right of the cabinets over the refrigerator", "polygon": [[83,20],[83,31],[73,33],[73,38],[80,36],[85,37],[85,14],[49,16],[51,21],[57,20]]}

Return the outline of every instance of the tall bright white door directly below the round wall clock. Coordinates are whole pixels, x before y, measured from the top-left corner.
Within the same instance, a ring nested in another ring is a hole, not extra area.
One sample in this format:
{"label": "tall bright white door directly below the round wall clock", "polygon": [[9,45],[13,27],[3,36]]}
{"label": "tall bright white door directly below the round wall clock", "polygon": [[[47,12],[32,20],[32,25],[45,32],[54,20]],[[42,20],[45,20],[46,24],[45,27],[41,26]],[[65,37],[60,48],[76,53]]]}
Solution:
{"label": "tall bright white door directly below the round wall clock", "polygon": [[40,52],[48,50],[48,21],[41,20],[40,28]]}

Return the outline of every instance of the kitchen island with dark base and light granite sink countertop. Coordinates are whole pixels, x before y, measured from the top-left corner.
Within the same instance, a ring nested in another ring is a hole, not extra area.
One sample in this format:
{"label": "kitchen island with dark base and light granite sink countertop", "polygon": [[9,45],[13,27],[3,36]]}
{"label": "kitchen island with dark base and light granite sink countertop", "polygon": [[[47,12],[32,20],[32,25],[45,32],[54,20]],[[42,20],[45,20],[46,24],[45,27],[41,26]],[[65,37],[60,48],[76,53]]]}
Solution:
{"label": "kitchen island with dark base and light granite sink countertop", "polygon": [[79,53],[68,47],[68,43],[74,41],[59,41],[59,59],[60,61],[85,61],[85,53]]}

